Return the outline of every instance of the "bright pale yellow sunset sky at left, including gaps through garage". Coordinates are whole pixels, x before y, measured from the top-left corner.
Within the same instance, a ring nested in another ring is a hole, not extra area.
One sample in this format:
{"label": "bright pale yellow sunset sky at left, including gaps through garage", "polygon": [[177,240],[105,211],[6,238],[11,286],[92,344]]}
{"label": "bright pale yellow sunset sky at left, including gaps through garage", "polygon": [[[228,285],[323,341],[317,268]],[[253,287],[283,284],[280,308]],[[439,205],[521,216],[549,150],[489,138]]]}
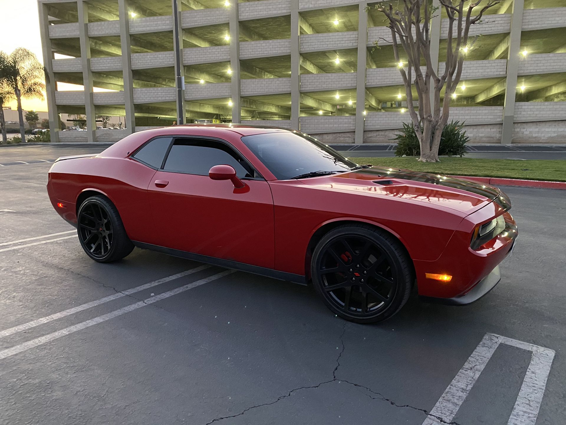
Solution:
{"label": "bright pale yellow sunset sky at left, including gaps through garage", "polygon": [[[43,63],[37,0],[0,0],[0,50],[11,53],[25,47]],[[83,86],[58,83],[57,90],[83,90]],[[99,90],[95,90],[99,91]],[[6,106],[16,109],[15,101]],[[24,111],[47,111],[47,102],[39,99],[22,99]]]}

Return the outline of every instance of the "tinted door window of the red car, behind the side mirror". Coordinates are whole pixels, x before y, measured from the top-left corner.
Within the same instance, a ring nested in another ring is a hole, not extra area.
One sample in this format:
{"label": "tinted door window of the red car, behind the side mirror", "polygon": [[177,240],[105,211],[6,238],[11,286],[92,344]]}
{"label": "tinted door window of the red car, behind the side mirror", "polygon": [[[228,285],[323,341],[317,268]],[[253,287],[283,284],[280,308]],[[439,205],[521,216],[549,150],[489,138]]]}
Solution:
{"label": "tinted door window of the red car, behind the side mirror", "polygon": [[228,146],[218,142],[176,140],[165,162],[166,171],[208,176],[214,165],[234,167],[236,175],[254,177],[248,165],[231,152]]}

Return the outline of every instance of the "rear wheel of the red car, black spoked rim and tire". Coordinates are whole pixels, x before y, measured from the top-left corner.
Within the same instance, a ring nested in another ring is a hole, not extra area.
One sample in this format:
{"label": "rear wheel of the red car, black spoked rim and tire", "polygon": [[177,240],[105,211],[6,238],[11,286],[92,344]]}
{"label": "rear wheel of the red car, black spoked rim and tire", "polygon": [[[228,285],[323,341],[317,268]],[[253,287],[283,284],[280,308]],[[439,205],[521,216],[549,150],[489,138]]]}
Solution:
{"label": "rear wheel of the red car, black spoked rim and tire", "polygon": [[80,205],[77,233],[84,252],[101,263],[121,260],[134,249],[118,210],[101,195],[91,196]]}

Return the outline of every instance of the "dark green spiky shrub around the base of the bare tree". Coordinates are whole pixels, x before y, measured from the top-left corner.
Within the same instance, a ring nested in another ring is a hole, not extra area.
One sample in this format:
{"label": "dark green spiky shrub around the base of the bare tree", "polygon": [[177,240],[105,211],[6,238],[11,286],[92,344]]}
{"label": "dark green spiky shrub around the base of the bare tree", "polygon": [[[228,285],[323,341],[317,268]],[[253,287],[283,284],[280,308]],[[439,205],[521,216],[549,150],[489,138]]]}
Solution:
{"label": "dark green spiky shrub around the base of the bare tree", "polygon": [[[460,121],[452,121],[444,126],[440,136],[439,155],[463,156],[466,154],[466,143],[470,138],[466,136],[466,131],[462,130],[463,127],[464,122],[460,124]],[[403,123],[401,133],[396,134],[395,138],[391,140],[397,141],[396,156],[421,155],[421,145],[419,145],[415,126],[412,122]]]}

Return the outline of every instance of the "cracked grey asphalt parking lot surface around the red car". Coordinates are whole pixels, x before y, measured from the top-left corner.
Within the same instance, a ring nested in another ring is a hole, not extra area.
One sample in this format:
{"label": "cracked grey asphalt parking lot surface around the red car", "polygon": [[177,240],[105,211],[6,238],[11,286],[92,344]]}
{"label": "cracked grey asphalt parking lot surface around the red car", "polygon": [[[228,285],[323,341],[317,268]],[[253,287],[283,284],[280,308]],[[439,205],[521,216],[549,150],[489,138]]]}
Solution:
{"label": "cracked grey asphalt parking lot surface around the red car", "polygon": [[520,234],[477,303],[413,294],[357,325],[310,287],[137,248],[89,260],[49,167],[0,167],[2,424],[566,423],[560,190],[503,188]]}

